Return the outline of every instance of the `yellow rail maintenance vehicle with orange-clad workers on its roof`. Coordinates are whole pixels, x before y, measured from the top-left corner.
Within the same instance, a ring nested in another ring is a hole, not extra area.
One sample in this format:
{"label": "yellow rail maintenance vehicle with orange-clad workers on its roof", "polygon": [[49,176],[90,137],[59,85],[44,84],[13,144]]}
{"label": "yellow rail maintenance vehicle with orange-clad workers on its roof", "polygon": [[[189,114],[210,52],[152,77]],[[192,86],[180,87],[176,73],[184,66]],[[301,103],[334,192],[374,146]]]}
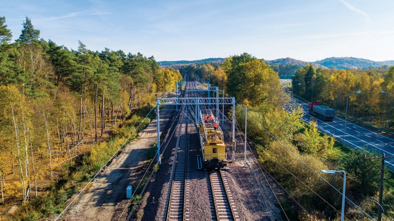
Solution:
{"label": "yellow rail maintenance vehicle with orange-clad workers on its roof", "polygon": [[213,127],[215,118],[205,120],[200,113],[199,136],[202,154],[202,169],[223,168],[227,165],[223,132],[220,126]]}

